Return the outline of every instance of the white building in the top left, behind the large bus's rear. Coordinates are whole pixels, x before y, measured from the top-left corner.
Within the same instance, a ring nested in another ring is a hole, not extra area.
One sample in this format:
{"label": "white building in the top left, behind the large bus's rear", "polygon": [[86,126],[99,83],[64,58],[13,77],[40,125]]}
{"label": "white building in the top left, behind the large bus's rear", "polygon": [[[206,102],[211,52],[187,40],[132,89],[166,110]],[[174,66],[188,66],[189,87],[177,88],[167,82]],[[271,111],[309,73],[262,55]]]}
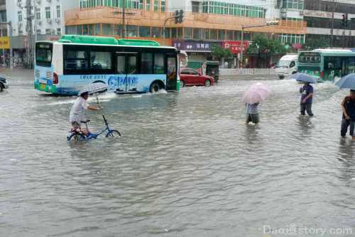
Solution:
{"label": "white building in the top left, behind the large bus's rear", "polygon": [[[28,0],[6,0],[6,19],[13,28],[11,46],[15,65],[27,62],[31,67],[32,51],[35,40],[55,40],[64,32],[64,12],[79,6],[73,0],[31,0],[31,11],[28,11]],[[31,12],[31,29],[28,29],[28,12]],[[32,37],[28,33],[32,31]]]}

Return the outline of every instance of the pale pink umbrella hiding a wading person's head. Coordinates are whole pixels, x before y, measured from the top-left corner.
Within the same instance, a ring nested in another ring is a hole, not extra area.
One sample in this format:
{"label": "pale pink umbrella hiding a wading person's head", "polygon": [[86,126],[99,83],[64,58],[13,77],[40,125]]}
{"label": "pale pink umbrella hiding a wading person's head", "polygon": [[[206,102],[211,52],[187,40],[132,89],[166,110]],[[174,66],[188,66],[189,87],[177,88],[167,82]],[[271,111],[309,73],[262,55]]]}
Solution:
{"label": "pale pink umbrella hiding a wading person's head", "polygon": [[263,83],[256,83],[246,90],[243,95],[243,102],[255,104],[266,100],[271,95],[271,88]]}

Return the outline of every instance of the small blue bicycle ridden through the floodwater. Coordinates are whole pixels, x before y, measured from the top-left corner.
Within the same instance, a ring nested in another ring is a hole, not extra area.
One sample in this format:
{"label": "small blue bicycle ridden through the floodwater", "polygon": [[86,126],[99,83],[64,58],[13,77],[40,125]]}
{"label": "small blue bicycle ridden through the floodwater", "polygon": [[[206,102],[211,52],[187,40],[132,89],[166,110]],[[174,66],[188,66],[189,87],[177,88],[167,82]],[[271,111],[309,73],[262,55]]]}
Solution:
{"label": "small blue bicycle ridden through the floodwater", "polygon": [[102,115],[102,117],[104,118],[104,122],[105,122],[106,127],[101,132],[99,132],[99,133],[90,132],[89,131],[89,127],[87,126],[87,123],[90,122],[90,120],[81,121],[82,123],[84,123],[88,134],[84,135],[82,132],[76,131],[76,130],[75,131],[70,131],[70,135],[67,136],[67,140],[70,141],[70,140],[73,139],[75,141],[87,141],[87,140],[90,140],[90,139],[97,139],[97,137],[99,137],[99,135],[102,135],[104,132],[107,132],[105,137],[115,137],[115,136],[121,137],[121,133],[119,131],[112,130],[109,127],[109,123],[107,122],[106,117],[104,115]]}

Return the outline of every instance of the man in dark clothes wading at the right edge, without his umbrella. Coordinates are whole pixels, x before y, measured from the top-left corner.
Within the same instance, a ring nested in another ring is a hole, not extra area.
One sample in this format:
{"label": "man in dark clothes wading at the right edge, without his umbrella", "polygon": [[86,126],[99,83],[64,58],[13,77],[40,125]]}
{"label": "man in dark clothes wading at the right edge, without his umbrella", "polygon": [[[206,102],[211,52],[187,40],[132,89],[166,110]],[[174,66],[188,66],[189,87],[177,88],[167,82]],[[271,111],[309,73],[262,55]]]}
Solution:
{"label": "man in dark clothes wading at the right edge, without his umbrella", "polygon": [[346,96],[342,101],[342,130],[340,134],[345,137],[348,127],[350,125],[350,136],[354,137],[354,123],[355,123],[355,90],[350,90],[350,95]]}

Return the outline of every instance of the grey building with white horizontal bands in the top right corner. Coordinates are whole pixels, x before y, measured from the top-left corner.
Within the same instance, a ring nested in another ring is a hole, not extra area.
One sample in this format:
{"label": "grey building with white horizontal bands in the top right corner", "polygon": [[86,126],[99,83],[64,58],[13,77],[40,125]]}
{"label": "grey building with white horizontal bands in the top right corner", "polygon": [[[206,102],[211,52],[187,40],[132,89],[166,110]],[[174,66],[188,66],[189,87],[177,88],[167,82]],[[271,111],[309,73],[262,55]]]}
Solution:
{"label": "grey building with white horizontal bands in the top right corner", "polygon": [[[305,0],[303,15],[307,21],[307,44],[354,48],[355,22],[351,18],[355,18],[355,1]],[[346,26],[343,15],[349,19]]]}

